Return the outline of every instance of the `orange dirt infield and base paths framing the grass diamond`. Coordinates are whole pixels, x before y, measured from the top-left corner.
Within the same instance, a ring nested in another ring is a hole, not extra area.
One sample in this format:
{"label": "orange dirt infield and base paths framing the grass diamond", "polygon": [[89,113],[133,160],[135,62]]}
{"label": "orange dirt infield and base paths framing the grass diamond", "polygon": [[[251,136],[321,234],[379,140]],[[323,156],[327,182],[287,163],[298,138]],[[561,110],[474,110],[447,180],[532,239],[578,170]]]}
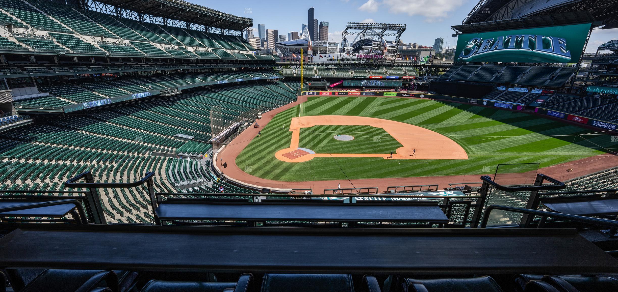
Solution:
{"label": "orange dirt infield and base paths framing the grass diamond", "polygon": [[384,159],[391,159],[390,153],[307,153],[307,155],[300,157],[290,157],[290,153],[298,150],[300,129],[317,125],[383,128],[386,133],[389,133],[392,138],[402,145],[402,147],[397,148],[395,154],[392,155],[392,159],[468,159],[468,155],[462,146],[451,140],[451,138],[432,130],[394,120],[354,117],[350,115],[308,115],[292,118],[290,123],[290,131],[292,132],[290,148],[281,149],[274,156],[280,161],[285,162],[305,162],[315,157],[382,157]]}

